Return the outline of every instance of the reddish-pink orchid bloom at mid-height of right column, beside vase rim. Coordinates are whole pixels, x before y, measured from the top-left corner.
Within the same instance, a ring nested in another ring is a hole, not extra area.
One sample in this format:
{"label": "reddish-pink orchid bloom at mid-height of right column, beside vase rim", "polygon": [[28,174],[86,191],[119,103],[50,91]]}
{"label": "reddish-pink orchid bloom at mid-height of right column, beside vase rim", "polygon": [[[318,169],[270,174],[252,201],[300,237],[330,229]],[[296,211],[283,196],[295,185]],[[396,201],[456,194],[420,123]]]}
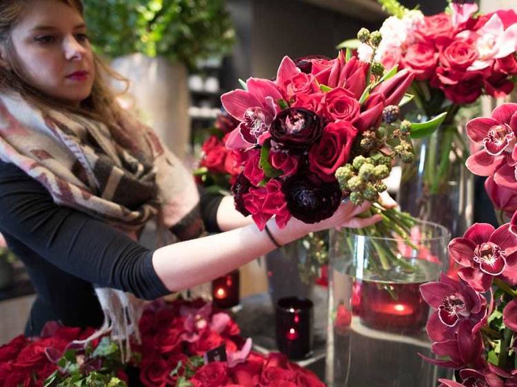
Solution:
{"label": "reddish-pink orchid bloom at mid-height of right column, beside vase rim", "polygon": [[476,291],[487,291],[495,277],[517,284],[517,236],[510,224],[473,224],[449,243],[449,255],[463,266],[458,276]]}

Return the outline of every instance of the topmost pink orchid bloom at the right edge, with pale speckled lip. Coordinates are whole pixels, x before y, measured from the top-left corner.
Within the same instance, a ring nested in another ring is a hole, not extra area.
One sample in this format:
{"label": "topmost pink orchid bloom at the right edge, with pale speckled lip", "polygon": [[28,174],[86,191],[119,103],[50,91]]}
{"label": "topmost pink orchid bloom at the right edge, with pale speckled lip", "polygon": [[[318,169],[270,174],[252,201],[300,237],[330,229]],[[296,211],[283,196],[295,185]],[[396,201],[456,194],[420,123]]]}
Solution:
{"label": "topmost pink orchid bloom at the right edge, with pale speckled lip", "polygon": [[483,149],[467,159],[467,168],[478,176],[494,175],[498,185],[517,188],[517,103],[496,107],[490,117],[479,117],[467,123],[467,134]]}

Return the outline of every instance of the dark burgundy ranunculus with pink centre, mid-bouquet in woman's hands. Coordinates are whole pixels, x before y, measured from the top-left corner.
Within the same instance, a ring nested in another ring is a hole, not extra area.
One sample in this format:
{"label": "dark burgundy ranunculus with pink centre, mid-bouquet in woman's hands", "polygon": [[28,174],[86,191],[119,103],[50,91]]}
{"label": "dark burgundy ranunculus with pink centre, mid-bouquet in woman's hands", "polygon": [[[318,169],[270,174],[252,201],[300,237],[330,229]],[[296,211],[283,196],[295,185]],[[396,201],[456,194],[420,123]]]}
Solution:
{"label": "dark burgundy ranunculus with pink centre, mid-bouquet in woman's hands", "polygon": [[276,115],[271,124],[271,138],[283,147],[305,149],[323,132],[321,118],[314,112],[290,107]]}

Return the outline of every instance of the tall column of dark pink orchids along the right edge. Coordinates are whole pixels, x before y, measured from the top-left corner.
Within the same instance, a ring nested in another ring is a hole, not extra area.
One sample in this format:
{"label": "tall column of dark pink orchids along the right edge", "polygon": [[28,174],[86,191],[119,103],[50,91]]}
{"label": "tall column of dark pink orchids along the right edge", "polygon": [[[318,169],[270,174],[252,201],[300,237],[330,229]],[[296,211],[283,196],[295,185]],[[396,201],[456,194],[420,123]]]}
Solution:
{"label": "tall column of dark pink orchids along the right edge", "polygon": [[440,359],[430,362],[459,370],[460,380],[440,379],[441,387],[517,386],[517,104],[494,109],[491,117],[467,124],[469,138],[482,149],[467,160],[476,175],[488,176],[485,187],[507,224],[495,229],[477,223],[449,244],[460,265],[457,276],[420,287],[436,308],[427,323]]}

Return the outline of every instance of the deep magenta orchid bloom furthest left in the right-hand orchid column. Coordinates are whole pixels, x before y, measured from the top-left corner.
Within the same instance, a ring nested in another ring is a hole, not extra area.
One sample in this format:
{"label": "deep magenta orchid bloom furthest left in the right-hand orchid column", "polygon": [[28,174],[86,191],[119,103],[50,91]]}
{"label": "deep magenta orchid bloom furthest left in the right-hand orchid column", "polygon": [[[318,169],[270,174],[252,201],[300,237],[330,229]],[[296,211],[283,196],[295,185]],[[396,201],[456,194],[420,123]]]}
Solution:
{"label": "deep magenta orchid bloom furthest left in the right-hand orchid column", "polygon": [[465,282],[452,280],[442,274],[440,282],[428,282],[420,286],[420,293],[425,302],[436,309],[427,322],[427,334],[433,342],[454,339],[458,325],[463,320],[474,324],[474,333],[486,322],[485,297]]}

